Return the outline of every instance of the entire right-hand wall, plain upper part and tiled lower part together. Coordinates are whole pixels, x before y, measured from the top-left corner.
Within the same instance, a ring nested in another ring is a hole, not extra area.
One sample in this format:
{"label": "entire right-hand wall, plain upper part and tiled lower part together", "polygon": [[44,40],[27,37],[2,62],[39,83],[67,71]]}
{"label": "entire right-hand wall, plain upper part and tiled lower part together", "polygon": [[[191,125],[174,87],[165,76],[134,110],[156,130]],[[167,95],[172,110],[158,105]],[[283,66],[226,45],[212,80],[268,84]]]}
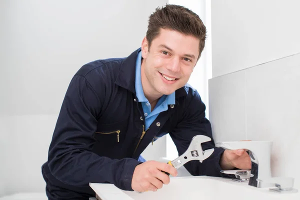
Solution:
{"label": "entire right-hand wall, plain upper part and tiled lower part together", "polygon": [[272,176],[300,188],[299,1],[212,1],[209,113],[216,141],[271,140]]}

